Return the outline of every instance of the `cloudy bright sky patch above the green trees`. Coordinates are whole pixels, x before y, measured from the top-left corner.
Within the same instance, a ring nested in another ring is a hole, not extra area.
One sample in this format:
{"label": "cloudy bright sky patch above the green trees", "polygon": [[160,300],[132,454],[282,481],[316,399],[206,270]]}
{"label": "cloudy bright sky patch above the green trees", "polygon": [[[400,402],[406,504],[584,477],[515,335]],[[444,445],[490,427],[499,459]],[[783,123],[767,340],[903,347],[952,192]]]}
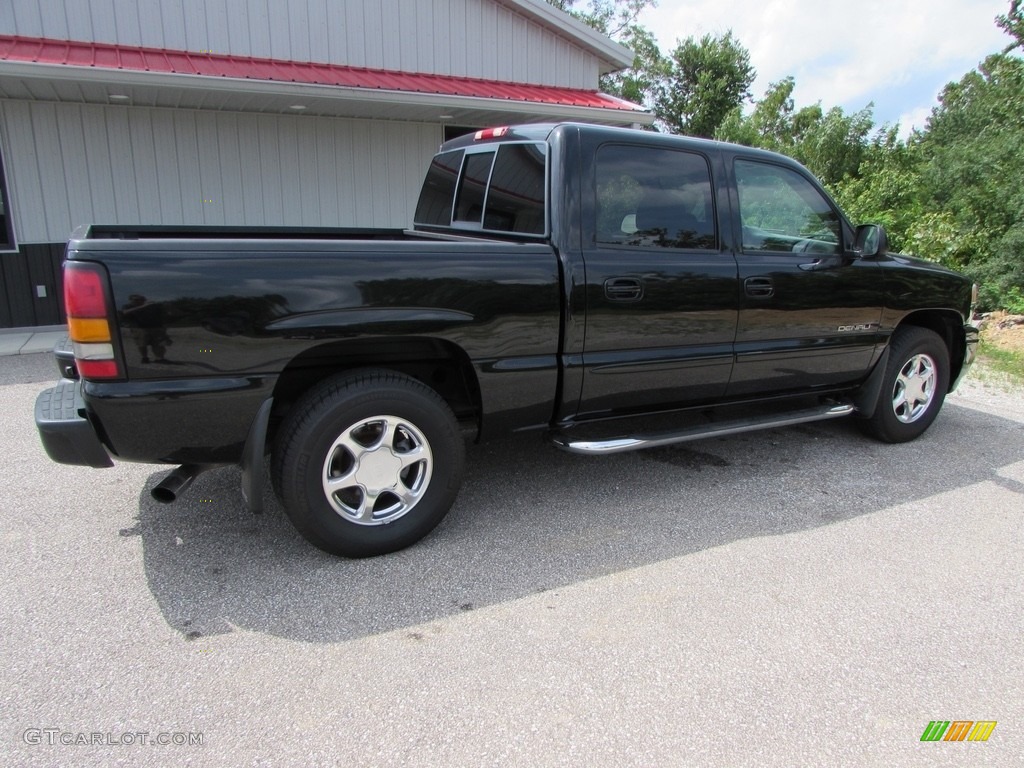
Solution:
{"label": "cloudy bright sky patch above the green trees", "polygon": [[876,125],[923,128],[942,87],[1008,37],[995,26],[1010,0],[658,0],[640,23],[663,53],[678,40],[732,30],[750,51],[760,99],[792,75],[797,109],[817,101],[848,114],[873,102]]}

